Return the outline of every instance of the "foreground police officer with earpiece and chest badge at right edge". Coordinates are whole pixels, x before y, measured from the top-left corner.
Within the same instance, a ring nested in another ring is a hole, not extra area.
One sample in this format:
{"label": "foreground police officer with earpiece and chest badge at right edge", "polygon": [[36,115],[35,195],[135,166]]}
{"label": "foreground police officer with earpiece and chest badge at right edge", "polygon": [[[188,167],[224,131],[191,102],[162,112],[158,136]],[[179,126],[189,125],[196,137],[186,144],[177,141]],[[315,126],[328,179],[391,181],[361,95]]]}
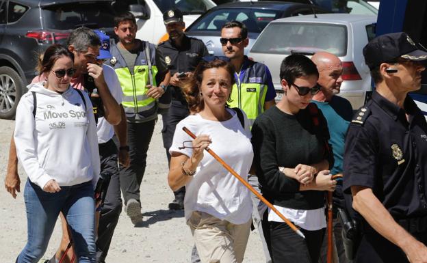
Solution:
{"label": "foreground police officer with earpiece and chest badge at right edge", "polygon": [[344,191],[363,217],[354,262],[427,262],[427,123],[408,96],[421,87],[427,52],[406,33],[389,33],[363,55],[376,90],[344,150]]}

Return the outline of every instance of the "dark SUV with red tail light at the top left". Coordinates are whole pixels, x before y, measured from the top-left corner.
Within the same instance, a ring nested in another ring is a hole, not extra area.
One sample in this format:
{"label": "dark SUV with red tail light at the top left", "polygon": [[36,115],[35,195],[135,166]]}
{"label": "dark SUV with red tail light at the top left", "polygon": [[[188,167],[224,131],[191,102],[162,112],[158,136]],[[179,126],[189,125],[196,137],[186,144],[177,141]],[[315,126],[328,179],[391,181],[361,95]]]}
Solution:
{"label": "dark SUV with red tail light at the top left", "polygon": [[0,0],[0,118],[12,119],[39,54],[76,27],[111,33],[112,0]]}

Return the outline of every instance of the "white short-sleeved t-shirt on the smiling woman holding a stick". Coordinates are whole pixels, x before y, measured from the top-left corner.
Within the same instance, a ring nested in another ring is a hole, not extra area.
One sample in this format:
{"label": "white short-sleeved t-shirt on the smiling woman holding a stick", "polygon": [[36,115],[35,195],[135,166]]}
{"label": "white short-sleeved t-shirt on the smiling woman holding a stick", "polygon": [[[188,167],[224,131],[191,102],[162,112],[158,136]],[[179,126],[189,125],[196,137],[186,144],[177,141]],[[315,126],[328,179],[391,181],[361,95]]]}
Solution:
{"label": "white short-sleeved t-shirt on the smiling woman holding a stick", "polygon": [[[243,128],[235,111],[227,110],[233,117],[224,122],[205,120],[199,114],[181,120],[177,124],[169,152],[192,156],[191,148],[179,149],[183,141],[189,141],[185,146],[192,146],[192,138],[182,130],[185,126],[196,136],[209,135],[212,141],[209,148],[247,180],[253,161],[248,120],[244,114]],[[230,223],[242,224],[248,222],[252,214],[250,191],[206,151],[196,168],[196,174],[185,185],[184,208],[187,220],[193,211],[200,211]]]}

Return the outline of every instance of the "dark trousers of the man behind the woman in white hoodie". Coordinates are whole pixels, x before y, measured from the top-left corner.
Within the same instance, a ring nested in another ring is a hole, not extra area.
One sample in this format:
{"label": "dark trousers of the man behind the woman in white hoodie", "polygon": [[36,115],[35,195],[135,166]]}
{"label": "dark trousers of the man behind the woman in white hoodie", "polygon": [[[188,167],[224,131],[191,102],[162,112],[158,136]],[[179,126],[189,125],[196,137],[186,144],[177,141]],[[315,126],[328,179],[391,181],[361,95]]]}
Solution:
{"label": "dark trousers of the man behind the woman in white hoodie", "polygon": [[120,212],[122,212],[117,146],[113,139],[99,144],[99,156],[101,158],[101,172],[109,171],[109,174],[111,174],[104,206],[101,209],[98,237],[96,238],[96,261],[104,262],[114,230],[116,229],[118,217],[120,216]]}

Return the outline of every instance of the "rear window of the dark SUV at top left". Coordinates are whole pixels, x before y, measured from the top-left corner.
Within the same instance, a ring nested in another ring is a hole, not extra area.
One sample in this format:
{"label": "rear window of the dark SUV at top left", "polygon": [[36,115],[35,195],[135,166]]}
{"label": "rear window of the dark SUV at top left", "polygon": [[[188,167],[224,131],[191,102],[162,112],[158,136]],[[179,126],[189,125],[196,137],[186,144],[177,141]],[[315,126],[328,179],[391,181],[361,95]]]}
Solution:
{"label": "rear window of the dark SUV at top left", "polygon": [[90,27],[92,29],[114,27],[114,11],[108,2],[68,3],[53,5],[42,10],[44,24],[49,29],[75,29]]}

